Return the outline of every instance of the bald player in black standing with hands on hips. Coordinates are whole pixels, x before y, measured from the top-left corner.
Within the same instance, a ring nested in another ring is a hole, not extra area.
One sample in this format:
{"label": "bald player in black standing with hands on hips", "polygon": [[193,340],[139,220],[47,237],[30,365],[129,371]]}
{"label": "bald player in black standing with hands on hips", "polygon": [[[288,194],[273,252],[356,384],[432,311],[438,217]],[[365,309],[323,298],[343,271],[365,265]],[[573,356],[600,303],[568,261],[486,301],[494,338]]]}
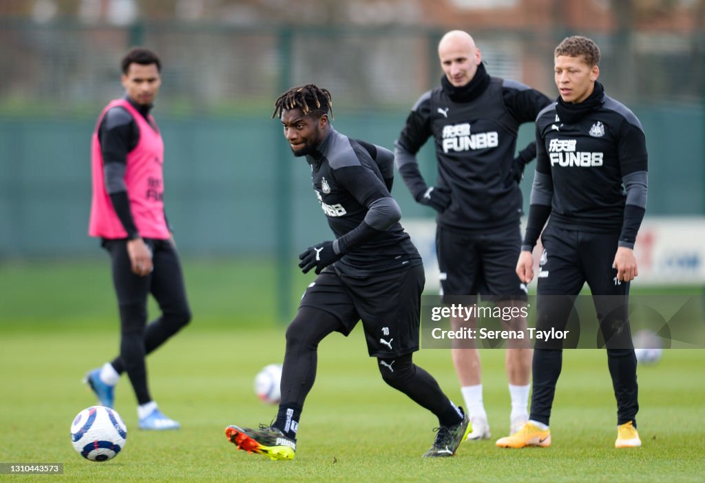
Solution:
{"label": "bald player in black standing with hands on hips", "polygon": [[[504,310],[525,313],[526,286],[515,273],[521,249],[522,180],[536,156],[532,142],[515,156],[517,132],[533,123],[551,99],[514,80],[492,77],[474,39],[452,30],[439,42],[441,85],[413,106],[396,142],[396,163],[417,202],[434,208],[436,255],[445,303],[472,304],[477,296]],[[417,153],[434,138],[438,175],[428,184]],[[525,317],[503,320],[503,329],[522,330]],[[477,320],[451,319],[453,330]],[[472,421],[469,440],[489,439],[482,402],[479,351],[455,341],[453,364]],[[512,401],[510,430],[528,419],[531,349],[508,341],[505,356]],[[526,341],[527,342],[527,341]]]}

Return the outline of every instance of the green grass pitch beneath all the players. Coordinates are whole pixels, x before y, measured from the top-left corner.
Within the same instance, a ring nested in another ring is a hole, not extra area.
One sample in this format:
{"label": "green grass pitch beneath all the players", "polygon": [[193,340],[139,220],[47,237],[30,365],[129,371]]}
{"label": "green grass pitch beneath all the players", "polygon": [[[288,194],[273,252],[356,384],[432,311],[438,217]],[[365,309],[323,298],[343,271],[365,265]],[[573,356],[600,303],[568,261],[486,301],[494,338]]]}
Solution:
{"label": "green grass pitch beneath all the players", "polygon": [[[140,432],[123,378],[116,410],[128,425],[127,444],[114,460],[91,463],[75,453],[68,429],[94,403],[81,377],[117,350],[114,299],[109,280],[99,279],[106,269],[88,262],[0,267],[0,462],[63,463],[59,478],[75,481],[703,481],[702,350],[666,351],[660,363],[639,368],[644,446],[635,450],[613,448],[616,408],[604,351],[565,351],[553,446],[516,451],[494,446],[508,429],[509,396],[504,352],[485,350],[493,439],[463,444],[455,458],[423,460],[435,418],[386,387],[360,330],[333,334],[319,348],[295,460],[237,451],[223,429],[274,417],[276,408],[257,400],[252,380],[262,366],[281,362],[284,348],[284,327],[273,322],[271,307],[275,272],[258,261],[185,263],[194,321],[148,359],[152,394],[183,427]],[[448,351],[422,350],[415,360],[460,401]],[[11,478],[39,479],[0,477]]]}

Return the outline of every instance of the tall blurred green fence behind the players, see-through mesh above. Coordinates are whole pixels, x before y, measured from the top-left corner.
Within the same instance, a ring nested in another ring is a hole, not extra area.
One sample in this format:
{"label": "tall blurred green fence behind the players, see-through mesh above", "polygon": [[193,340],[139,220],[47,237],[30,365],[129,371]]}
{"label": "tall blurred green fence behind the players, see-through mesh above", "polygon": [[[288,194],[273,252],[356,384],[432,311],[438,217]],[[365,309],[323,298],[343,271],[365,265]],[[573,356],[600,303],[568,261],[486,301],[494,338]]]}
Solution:
{"label": "tall blurred green fence behind the players, see-through mesh above", "polygon": [[[439,82],[441,31],[223,27],[129,28],[0,22],[0,258],[97,252],[87,237],[90,134],[121,96],[129,46],[159,52],[154,115],[166,144],[166,207],[184,253],[295,252],[328,237],[309,170],[288,153],[272,103],[294,84],[331,90],[333,124],[391,148],[418,96]],[[489,72],[556,95],[553,47],[575,32],[472,32]],[[580,32],[590,35],[590,32]],[[705,214],[703,39],[591,35],[601,81],[644,125],[651,215]],[[520,144],[532,139],[522,127]],[[424,173],[433,179],[424,146]],[[531,176],[522,186],[528,198]],[[404,216],[428,217],[403,180]]]}

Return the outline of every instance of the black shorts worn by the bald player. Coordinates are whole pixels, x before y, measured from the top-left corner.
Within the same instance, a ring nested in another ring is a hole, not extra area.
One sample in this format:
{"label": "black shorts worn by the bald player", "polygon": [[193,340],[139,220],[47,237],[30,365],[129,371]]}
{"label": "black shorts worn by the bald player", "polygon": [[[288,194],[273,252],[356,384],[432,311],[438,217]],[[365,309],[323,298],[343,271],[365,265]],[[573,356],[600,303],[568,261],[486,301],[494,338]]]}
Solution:
{"label": "black shorts worn by the bald player", "polygon": [[526,285],[517,276],[522,239],[519,225],[482,234],[439,225],[436,256],[441,271],[441,297],[482,295],[489,301],[526,300]]}

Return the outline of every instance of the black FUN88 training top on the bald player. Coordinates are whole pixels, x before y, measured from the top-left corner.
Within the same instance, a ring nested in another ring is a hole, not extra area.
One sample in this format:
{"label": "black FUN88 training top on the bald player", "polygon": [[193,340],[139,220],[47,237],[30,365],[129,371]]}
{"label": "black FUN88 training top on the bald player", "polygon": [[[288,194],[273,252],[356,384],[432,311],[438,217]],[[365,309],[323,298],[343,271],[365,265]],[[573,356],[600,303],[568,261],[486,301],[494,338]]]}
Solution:
{"label": "black FUN88 training top on the bald player", "polygon": [[[515,225],[522,214],[522,194],[512,174],[517,132],[551,103],[541,92],[513,80],[491,77],[484,65],[463,87],[445,77],[423,94],[397,141],[397,163],[412,195],[427,189],[416,153],[434,137],[437,186],[450,189],[452,203],[438,215],[439,225],[492,230]],[[520,153],[535,156],[534,144]]]}

